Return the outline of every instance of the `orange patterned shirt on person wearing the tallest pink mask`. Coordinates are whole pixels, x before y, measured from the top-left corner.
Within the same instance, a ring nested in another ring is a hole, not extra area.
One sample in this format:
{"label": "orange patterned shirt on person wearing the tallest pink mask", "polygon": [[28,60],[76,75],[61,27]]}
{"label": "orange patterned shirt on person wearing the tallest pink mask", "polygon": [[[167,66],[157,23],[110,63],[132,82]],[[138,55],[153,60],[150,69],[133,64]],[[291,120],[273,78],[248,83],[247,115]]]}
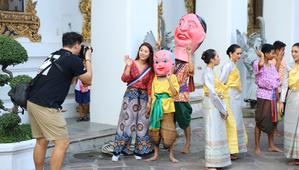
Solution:
{"label": "orange patterned shirt on person wearing the tallest pink mask", "polygon": [[[179,63],[176,65],[176,67],[179,67]],[[194,64],[193,64],[194,67]],[[194,67],[195,69],[195,67]],[[189,72],[189,64],[186,63],[184,65],[184,67],[181,69],[181,71],[179,72],[179,74],[176,76],[178,79],[178,83],[179,86],[183,86],[184,84],[187,83],[189,75],[193,76],[194,75],[194,71],[193,72]],[[187,84],[188,85],[188,84]],[[173,97],[173,101],[187,101],[189,102],[189,92],[179,92],[179,96],[178,97]]]}

